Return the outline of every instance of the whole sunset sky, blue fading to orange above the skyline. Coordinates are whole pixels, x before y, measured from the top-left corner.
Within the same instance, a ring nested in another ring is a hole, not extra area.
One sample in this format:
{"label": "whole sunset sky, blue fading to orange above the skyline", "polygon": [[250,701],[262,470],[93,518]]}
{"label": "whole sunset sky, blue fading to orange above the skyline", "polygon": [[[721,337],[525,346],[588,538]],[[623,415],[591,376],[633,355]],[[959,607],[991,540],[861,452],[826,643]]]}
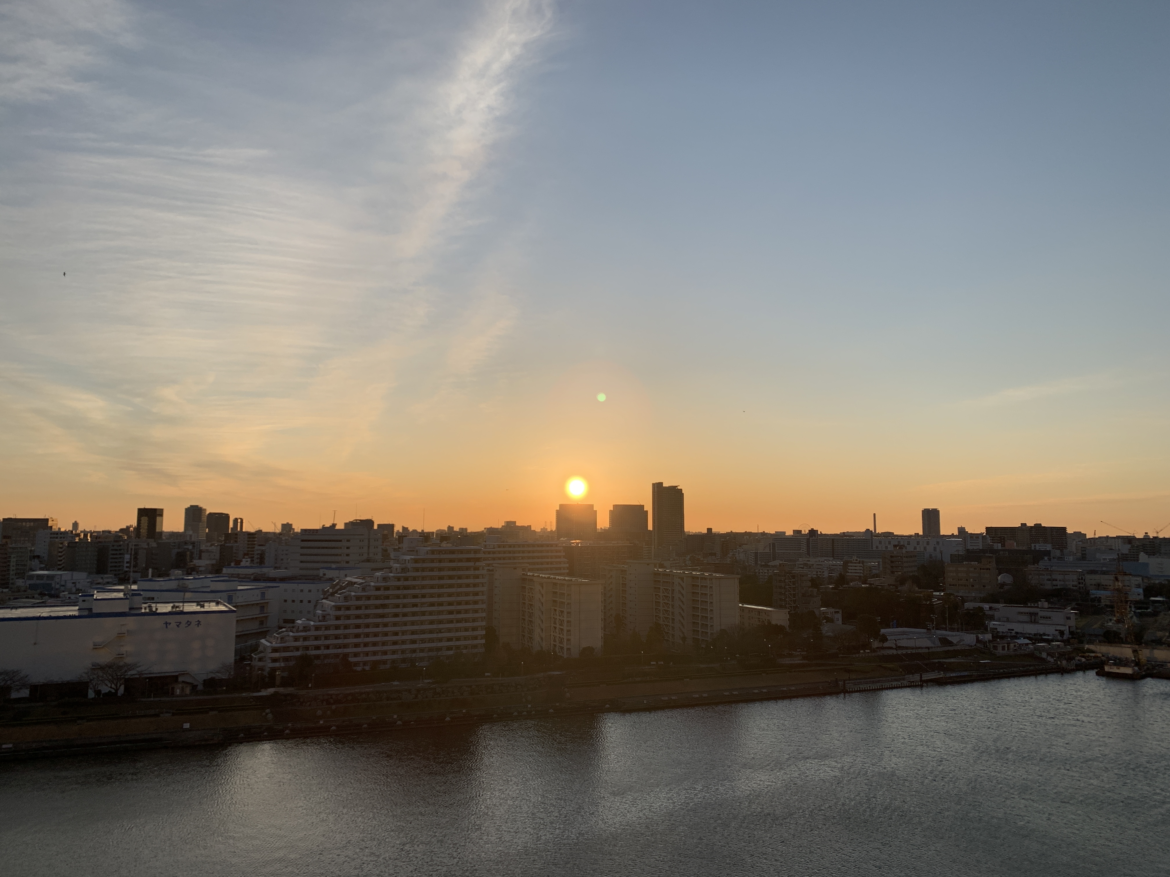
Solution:
{"label": "whole sunset sky, blue fading to orange above the skyline", "polygon": [[0,515],[1170,522],[1164,2],[0,16]]}

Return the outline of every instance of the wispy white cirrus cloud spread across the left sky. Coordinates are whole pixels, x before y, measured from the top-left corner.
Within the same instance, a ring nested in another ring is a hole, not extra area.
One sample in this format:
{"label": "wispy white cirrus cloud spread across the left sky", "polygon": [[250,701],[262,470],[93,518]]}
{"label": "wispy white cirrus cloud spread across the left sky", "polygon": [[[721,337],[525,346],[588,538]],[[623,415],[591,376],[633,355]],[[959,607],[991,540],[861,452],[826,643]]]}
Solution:
{"label": "wispy white cirrus cloud spread across the left sky", "polygon": [[433,51],[392,51],[419,34],[362,7],[301,35],[307,64],[130,4],[12,5],[6,441],[142,491],[260,471],[308,489],[325,476],[298,463],[395,428],[401,381],[490,358],[515,305],[457,239],[552,8],[412,9]]}

